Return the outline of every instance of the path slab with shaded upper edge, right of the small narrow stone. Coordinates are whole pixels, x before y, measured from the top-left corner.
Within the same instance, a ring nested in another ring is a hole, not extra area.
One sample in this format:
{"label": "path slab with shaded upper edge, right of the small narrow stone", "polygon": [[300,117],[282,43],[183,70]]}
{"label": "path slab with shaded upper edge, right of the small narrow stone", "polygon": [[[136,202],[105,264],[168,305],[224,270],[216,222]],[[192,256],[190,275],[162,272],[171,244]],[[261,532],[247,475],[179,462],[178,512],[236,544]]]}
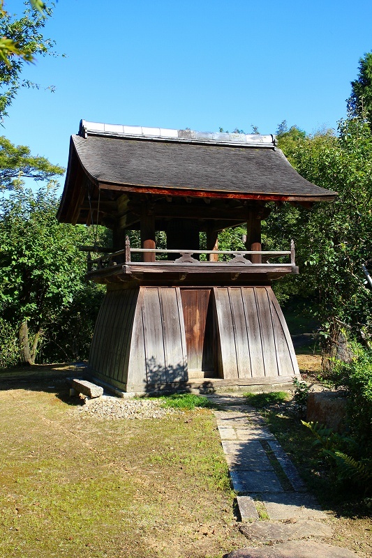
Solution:
{"label": "path slab with shaded upper edge, right of the small narrow stone", "polygon": [[304,493],[265,494],[262,502],[271,520],[327,518],[315,498]]}

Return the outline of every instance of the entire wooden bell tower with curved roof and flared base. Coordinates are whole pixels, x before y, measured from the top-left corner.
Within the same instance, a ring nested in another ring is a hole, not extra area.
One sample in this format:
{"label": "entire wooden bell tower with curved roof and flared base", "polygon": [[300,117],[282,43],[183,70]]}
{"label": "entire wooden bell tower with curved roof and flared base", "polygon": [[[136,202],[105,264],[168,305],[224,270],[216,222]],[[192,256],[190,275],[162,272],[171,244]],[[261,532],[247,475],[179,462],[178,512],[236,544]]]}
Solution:
{"label": "entire wooden bell tower with curved roof and flared base", "polygon": [[[87,270],[107,285],[91,376],[138,393],[290,382],[299,370],[271,281],[298,273],[295,248],[262,250],[261,220],[269,202],[335,195],[302,178],[271,135],[82,121],[58,218],[112,229],[112,249],[96,248]],[[218,232],[244,223],[246,250],[218,250]]]}

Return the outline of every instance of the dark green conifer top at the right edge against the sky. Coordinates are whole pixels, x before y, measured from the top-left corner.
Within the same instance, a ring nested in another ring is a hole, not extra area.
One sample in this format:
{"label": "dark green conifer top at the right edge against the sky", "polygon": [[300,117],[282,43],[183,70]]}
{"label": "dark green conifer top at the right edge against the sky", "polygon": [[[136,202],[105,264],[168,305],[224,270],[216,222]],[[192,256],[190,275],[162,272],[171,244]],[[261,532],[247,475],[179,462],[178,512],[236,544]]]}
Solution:
{"label": "dark green conifer top at the right edge against the sky", "polygon": [[366,119],[372,127],[372,52],[359,59],[359,75],[351,82],[347,103],[350,116]]}

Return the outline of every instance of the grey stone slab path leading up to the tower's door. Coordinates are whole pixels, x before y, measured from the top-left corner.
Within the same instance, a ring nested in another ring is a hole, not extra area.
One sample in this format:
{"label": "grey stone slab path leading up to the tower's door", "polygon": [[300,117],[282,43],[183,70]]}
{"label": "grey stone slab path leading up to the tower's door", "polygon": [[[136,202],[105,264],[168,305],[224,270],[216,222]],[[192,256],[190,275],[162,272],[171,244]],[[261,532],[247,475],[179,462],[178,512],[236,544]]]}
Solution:
{"label": "grey stone slab path leading up to the tower's door", "polygon": [[357,558],[350,550],[311,540],[332,537],[332,528],[322,522],[327,515],[306,492],[295,466],[260,414],[242,397],[208,398],[223,409],[215,415],[237,492],[240,530],[252,543],[265,544],[235,550],[228,558]]}

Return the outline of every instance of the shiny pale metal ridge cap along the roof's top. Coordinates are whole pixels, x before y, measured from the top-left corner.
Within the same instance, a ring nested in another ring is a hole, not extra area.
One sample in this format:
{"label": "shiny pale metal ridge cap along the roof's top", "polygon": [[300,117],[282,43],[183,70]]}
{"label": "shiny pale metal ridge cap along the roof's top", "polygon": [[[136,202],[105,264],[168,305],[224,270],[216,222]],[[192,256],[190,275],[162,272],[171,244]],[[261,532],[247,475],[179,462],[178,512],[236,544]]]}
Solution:
{"label": "shiny pale metal ridge cap along the roof's top", "polygon": [[273,134],[238,134],[225,132],[197,132],[195,130],[176,130],[172,128],[151,128],[146,126],[126,126],[122,124],[105,124],[100,122],[80,121],[79,135],[110,137],[127,137],[137,140],[172,141],[179,143],[197,143],[214,145],[236,145],[246,147],[276,146]]}

